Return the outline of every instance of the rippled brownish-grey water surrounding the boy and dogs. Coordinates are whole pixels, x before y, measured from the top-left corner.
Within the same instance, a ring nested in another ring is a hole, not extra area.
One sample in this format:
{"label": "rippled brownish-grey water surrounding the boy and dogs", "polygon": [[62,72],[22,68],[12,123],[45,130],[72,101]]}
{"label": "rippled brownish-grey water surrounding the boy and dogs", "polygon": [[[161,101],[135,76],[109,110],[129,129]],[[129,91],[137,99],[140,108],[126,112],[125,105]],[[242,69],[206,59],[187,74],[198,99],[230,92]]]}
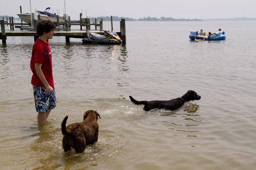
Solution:
{"label": "rippled brownish-grey water surrounding the boy and dogs", "polygon": [[[104,28],[110,29],[105,22]],[[115,31],[119,22],[114,22]],[[225,31],[193,42],[190,30]],[[57,107],[38,127],[30,57],[34,39],[8,37],[0,51],[0,169],[254,169],[256,22],[126,22],[126,45],[49,40]],[[243,32],[243,34],[241,34]],[[130,102],[195,90],[179,110]],[[101,115],[98,142],[65,153],[60,124]]]}

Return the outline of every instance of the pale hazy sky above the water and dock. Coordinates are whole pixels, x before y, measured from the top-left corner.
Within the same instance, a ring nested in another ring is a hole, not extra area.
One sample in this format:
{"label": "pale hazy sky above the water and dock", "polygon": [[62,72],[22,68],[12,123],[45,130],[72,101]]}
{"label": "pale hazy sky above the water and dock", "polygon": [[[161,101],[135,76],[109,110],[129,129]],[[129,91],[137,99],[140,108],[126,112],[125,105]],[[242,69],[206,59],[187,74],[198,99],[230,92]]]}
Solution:
{"label": "pale hazy sky above the water and dock", "polygon": [[20,7],[22,13],[35,10],[64,13],[71,19],[91,16],[119,16],[128,18],[171,17],[175,19],[216,19],[216,18],[256,18],[256,0],[0,0],[0,15],[18,18]]}

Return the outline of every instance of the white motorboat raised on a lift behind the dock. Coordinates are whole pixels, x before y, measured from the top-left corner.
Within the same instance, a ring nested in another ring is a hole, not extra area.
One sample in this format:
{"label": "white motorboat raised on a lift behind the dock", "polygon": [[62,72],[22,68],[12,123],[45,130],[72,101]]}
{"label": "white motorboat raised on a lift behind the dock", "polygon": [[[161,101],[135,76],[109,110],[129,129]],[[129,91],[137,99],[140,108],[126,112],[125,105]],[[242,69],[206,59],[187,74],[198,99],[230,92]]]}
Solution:
{"label": "white motorboat raised on a lift behind the dock", "polygon": [[[49,7],[46,9],[49,11]],[[38,15],[40,15],[40,19],[49,19],[53,23],[57,23],[57,15],[49,13],[48,11],[36,11],[36,18],[38,19]],[[19,18],[26,23],[31,23],[31,14],[30,13],[22,13],[22,14],[17,14]],[[32,14],[32,20],[34,20],[34,15]],[[64,19],[62,16],[59,16],[59,23],[63,23]]]}

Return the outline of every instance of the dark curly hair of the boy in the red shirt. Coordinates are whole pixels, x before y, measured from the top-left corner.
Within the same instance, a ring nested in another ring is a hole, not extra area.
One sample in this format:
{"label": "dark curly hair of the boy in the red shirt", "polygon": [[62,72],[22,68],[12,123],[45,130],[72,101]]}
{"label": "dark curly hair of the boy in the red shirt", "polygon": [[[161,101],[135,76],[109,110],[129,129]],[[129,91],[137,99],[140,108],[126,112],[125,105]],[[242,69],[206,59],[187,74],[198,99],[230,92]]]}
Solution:
{"label": "dark curly hair of the boy in the red shirt", "polygon": [[40,20],[38,24],[36,24],[36,34],[38,36],[41,36],[44,34],[44,32],[48,33],[51,30],[55,30],[56,26],[51,20]]}

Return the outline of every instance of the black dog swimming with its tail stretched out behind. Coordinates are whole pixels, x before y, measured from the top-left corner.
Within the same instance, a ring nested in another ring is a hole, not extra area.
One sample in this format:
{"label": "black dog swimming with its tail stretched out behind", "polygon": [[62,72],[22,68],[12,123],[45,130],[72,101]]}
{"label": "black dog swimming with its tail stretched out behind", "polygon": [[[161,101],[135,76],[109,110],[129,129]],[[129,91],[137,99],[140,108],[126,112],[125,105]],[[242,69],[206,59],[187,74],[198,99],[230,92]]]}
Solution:
{"label": "black dog swimming with its tail stretched out behind", "polygon": [[133,97],[129,97],[131,102],[135,103],[135,105],[144,105],[143,110],[145,111],[150,111],[152,109],[177,110],[183,106],[185,102],[199,100],[201,98],[201,96],[197,95],[196,92],[192,90],[188,90],[182,97],[171,99],[170,101],[137,101]]}

